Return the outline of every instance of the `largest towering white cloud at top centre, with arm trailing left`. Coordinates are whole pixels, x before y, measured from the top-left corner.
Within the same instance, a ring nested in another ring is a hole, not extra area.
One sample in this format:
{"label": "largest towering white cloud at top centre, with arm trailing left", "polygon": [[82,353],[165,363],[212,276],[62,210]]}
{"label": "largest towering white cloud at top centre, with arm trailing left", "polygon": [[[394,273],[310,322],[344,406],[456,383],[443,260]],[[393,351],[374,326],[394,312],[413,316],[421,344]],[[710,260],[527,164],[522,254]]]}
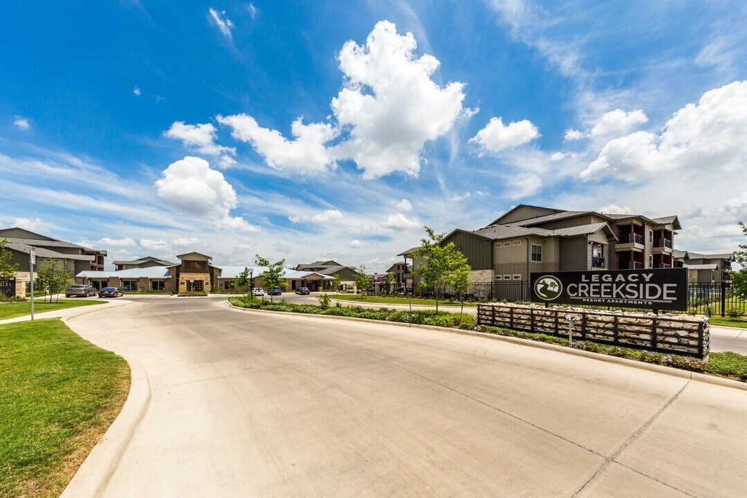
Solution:
{"label": "largest towering white cloud at top centre, with arm trailing left", "polygon": [[218,121],[278,169],[321,172],[352,159],[364,178],[392,172],[417,175],[421,149],[450,131],[463,111],[465,94],[462,83],[436,84],[431,75],[438,60],[416,57],[415,49],[415,37],[397,34],[388,21],[374,26],[365,45],[345,43],[338,56],[344,88],[332,99],[330,122],[304,125],[299,117],[291,128],[292,140],[246,114],[218,116]]}

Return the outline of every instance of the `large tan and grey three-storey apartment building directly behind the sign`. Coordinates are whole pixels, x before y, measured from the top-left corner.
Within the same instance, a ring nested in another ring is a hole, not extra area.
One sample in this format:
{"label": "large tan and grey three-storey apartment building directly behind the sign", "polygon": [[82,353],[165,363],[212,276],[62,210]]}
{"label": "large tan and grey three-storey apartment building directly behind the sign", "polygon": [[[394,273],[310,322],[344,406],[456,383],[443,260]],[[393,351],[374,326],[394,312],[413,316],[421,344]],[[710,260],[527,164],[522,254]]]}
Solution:
{"label": "large tan and grey three-storey apartment building directly behind the sign", "polygon": [[[672,267],[679,229],[676,216],[518,205],[484,228],[457,228],[444,241],[466,256],[474,282],[527,281],[534,272]],[[405,263],[415,249],[400,253]]]}

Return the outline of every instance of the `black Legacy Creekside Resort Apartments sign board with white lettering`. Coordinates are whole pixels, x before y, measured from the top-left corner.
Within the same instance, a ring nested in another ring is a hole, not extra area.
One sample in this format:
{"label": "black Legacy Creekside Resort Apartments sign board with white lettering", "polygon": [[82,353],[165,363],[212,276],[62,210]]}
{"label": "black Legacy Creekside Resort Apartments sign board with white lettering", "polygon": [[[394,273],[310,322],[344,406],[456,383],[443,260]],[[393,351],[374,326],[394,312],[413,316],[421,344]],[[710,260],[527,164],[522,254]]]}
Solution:
{"label": "black Legacy Creekside Resort Apartments sign board with white lettering", "polygon": [[684,268],[532,273],[533,302],[687,309]]}

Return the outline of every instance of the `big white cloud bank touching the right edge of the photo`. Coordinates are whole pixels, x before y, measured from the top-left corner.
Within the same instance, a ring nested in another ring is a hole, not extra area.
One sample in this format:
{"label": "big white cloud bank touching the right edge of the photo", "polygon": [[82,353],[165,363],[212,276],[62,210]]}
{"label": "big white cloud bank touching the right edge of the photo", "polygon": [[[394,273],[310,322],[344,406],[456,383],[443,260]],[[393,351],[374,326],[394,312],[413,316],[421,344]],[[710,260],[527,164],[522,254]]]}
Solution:
{"label": "big white cloud bank touching the right edge of the photo", "polygon": [[745,129],[747,81],[735,81],[681,108],[659,134],[637,131],[610,140],[581,178],[610,175],[632,181],[705,166],[734,172],[747,164]]}

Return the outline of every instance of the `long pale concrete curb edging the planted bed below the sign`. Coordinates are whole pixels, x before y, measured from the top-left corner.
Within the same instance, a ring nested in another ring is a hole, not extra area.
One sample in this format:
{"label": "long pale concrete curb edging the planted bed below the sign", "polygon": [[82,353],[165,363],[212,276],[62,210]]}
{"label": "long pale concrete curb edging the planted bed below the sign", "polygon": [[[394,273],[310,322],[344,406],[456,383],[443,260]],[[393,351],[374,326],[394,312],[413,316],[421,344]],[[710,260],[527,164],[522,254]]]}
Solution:
{"label": "long pale concrete curb edging the planted bed below the sign", "polygon": [[331,320],[348,320],[351,322],[367,322],[367,323],[385,323],[386,325],[393,325],[398,327],[415,327],[417,329],[436,330],[440,332],[451,332],[453,334],[471,335],[474,337],[485,337],[492,340],[502,340],[503,342],[509,342],[514,344],[520,344],[522,346],[536,347],[539,349],[549,349],[551,351],[562,352],[566,355],[583,356],[584,358],[592,358],[599,361],[607,361],[607,363],[616,363],[626,365],[627,367],[639,368],[641,370],[649,370],[651,372],[663,373],[668,376],[680,377],[681,379],[691,379],[700,382],[706,382],[707,384],[720,385],[724,387],[733,387],[734,389],[747,390],[747,382],[740,382],[733,379],[727,379],[725,377],[710,376],[706,373],[690,372],[689,370],[681,370],[678,368],[664,367],[663,365],[656,365],[652,363],[645,363],[643,361],[629,360],[627,358],[620,358],[619,356],[603,355],[597,352],[582,351],[580,349],[573,349],[567,346],[558,346],[557,344],[542,343],[538,340],[520,339],[519,337],[508,337],[505,335],[490,334],[486,332],[474,332],[472,330],[462,329],[450,329],[448,327],[438,327],[434,325],[419,325],[417,323],[400,323],[400,322],[383,322],[382,320],[369,320],[368,318],[354,318],[354,317],[334,317],[330,315],[317,315],[310,313],[289,313],[288,311],[269,311],[269,310],[255,310],[251,308],[241,308],[239,306],[232,305],[228,300],[226,304],[235,310],[240,311],[251,311],[260,314],[284,314],[288,315],[299,315],[302,317],[317,317],[317,318],[329,318]]}

